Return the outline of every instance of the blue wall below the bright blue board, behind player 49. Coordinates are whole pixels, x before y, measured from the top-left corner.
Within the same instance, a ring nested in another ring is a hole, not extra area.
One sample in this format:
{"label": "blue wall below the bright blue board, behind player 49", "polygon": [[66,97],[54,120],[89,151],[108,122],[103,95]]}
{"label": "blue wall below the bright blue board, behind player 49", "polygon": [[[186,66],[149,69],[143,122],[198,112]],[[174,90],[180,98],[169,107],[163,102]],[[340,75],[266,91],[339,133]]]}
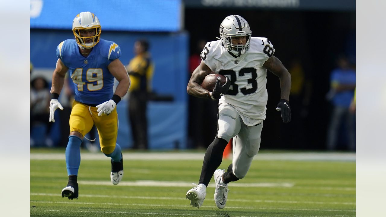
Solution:
{"label": "blue wall below the bright blue board, behind player 49", "polygon": [[[73,37],[71,30],[31,29],[30,58],[34,70],[49,71],[52,75],[57,61],[56,47],[61,41]],[[119,44],[122,51],[120,61],[125,65],[134,57],[133,45],[135,40],[147,39],[149,41],[152,60],[155,64],[153,90],[157,94],[173,96],[173,101],[151,101],[148,104],[149,148],[185,149],[188,115],[186,85],[189,79],[188,34],[185,32],[135,33],[102,30],[102,38]],[[117,143],[123,148],[130,148],[133,141],[127,116],[126,98],[117,105],[117,111],[119,115]],[[58,112],[60,111],[57,111],[55,115],[58,115]],[[51,131],[54,142],[68,139],[60,138],[58,136],[60,135],[59,131],[59,123],[55,122]]]}

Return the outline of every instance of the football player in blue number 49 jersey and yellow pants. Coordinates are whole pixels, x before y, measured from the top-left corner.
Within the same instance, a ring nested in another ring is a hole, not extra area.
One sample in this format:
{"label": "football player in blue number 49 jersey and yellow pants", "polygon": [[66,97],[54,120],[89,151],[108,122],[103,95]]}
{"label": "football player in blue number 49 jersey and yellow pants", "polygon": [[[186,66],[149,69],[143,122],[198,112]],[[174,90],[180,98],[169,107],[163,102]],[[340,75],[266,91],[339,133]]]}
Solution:
{"label": "football player in blue number 49 jersey and yellow pants", "polygon": [[[118,115],[115,106],[127,93],[130,79],[119,61],[120,47],[100,38],[101,25],[91,12],[81,12],[73,20],[75,39],[61,42],[56,49],[56,68],[52,75],[49,121],[55,122],[56,109],[67,71],[75,86],[75,101],[69,119],[70,135],[66,148],[68,184],[62,197],[78,198],[78,169],[80,145],[93,124],[98,129],[100,147],[111,158],[110,178],[117,185],[123,176],[121,148],[115,142],[118,133]],[[113,92],[114,78],[119,84]]]}

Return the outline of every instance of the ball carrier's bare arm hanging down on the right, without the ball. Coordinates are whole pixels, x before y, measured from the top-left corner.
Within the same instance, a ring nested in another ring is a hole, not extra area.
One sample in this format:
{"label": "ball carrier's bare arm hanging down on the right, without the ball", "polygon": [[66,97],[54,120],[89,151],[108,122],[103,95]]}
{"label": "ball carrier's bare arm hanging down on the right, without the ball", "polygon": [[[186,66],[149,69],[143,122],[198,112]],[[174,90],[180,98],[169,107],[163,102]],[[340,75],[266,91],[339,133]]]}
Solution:
{"label": "ball carrier's bare arm hanging down on the right, without the ball", "polygon": [[280,80],[280,98],[289,101],[289,91],[291,90],[291,74],[283,66],[281,61],[275,56],[271,56],[263,67],[271,71],[274,75],[279,77]]}

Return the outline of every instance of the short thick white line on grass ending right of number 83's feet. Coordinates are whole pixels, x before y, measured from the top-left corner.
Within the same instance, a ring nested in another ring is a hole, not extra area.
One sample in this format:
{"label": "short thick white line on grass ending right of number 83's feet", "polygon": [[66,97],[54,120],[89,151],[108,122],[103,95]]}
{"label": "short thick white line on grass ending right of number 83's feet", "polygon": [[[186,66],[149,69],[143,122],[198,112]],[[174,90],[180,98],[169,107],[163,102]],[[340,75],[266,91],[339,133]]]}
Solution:
{"label": "short thick white line on grass ending right of number 83's feet", "polygon": [[[111,181],[78,181],[82,185],[108,185],[111,186]],[[232,183],[232,187],[293,187],[293,183]],[[121,181],[119,186],[148,186],[148,187],[192,187],[191,182],[183,181],[153,181],[153,180],[137,180],[137,181]],[[208,187],[215,187],[215,183],[211,183]]]}

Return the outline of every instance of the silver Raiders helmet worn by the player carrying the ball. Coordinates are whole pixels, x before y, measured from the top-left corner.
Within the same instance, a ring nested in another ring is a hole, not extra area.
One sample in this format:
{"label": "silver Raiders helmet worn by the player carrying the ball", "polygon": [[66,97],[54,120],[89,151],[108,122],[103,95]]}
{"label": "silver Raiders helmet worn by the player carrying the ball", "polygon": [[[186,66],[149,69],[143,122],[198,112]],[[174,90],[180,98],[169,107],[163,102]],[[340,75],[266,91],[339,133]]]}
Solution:
{"label": "silver Raiders helmet worn by the player carrying the ball", "polygon": [[[230,15],[225,17],[220,25],[220,40],[230,53],[241,56],[246,54],[251,44],[251,28],[247,20],[239,15]],[[247,43],[245,45],[232,44],[232,37],[245,36]]]}

